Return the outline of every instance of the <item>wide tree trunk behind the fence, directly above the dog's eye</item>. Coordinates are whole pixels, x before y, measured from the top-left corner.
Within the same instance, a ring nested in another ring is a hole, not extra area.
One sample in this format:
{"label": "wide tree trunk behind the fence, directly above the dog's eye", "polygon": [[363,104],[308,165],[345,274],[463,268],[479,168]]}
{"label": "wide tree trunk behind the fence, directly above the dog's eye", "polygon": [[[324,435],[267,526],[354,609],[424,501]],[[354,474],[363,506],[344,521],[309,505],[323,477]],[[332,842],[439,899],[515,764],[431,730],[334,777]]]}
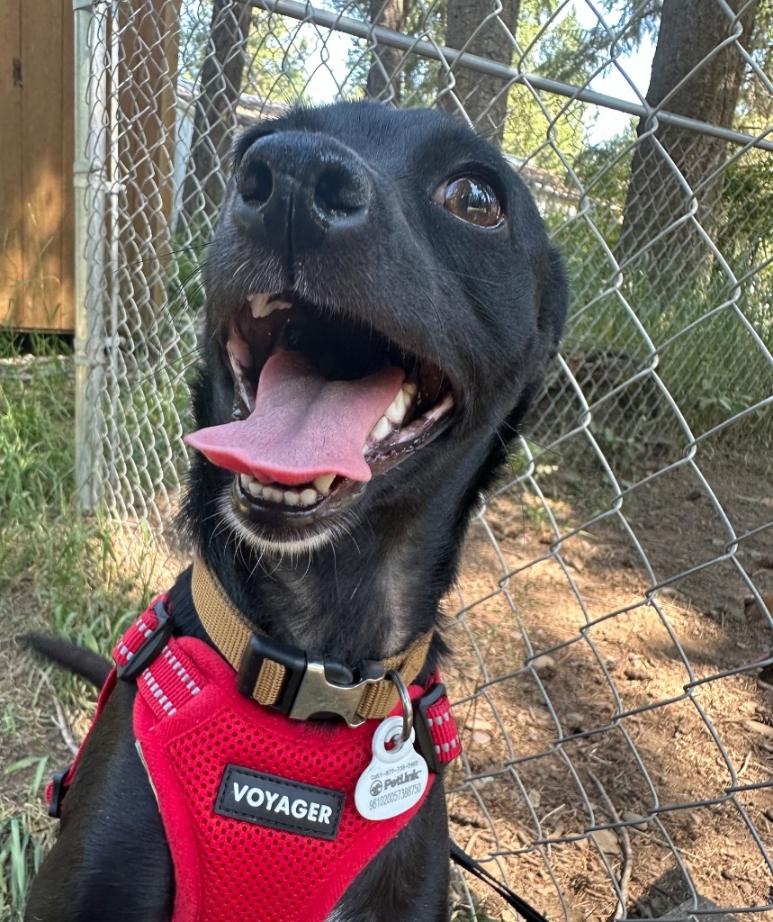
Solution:
{"label": "wide tree trunk behind the fence, directly above the dog's eye", "polygon": [[[521,0],[501,0],[502,9],[498,16],[493,16],[498,5],[499,0],[449,0],[446,44],[509,66]],[[451,89],[453,95],[444,93],[441,97],[445,108],[459,112],[461,103],[475,131],[501,144],[508,109],[508,81],[478,74],[461,65],[455,65],[452,74],[456,80]],[[449,77],[441,75],[440,79],[443,86],[448,86]]]}

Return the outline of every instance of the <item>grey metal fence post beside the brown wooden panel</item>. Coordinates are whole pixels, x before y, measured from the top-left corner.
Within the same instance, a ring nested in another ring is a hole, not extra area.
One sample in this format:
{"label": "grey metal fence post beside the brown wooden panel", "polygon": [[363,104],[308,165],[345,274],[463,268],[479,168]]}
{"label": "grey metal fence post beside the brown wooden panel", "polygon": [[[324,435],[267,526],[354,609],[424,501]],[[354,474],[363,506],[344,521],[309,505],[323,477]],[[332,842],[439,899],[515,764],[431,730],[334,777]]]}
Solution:
{"label": "grey metal fence post beside the brown wooden panel", "polygon": [[[104,112],[104,77],[95,44],[104,44],[104,22],[91,0],[74,0],[75,33],[75,299],[76,299],[76,495],[84,512],[100,502],[100,432],[104,331],[99,300],[91,282],[99,271],[100,229],[104,210],[100,195],[100,112]],[[96,129],[96,130],[95,130]],[[101,142],[103,144],[103,142]]]}

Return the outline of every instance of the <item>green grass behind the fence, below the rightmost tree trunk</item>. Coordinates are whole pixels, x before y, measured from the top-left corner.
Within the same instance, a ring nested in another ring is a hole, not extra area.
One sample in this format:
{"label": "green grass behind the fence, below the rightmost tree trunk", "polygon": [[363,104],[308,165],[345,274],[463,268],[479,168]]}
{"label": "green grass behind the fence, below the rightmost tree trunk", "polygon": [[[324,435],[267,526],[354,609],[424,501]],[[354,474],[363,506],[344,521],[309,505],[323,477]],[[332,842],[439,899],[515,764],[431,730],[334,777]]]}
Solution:
{"label": "green grass behind the fence, below the rightmost tree trunk", "polygon": [[[605,238],[614,241],[614,233]],[[652,423],[642,418],[656,415],[664,438],[685,442],[659,384],[651,377],[633,380],[650,367],[652,346],[655,372],[694,435],[731,421],[721,437],[725,442],[760,448],[771,443],[769,408],[732,420],[773,393],[773,269],[745,279],[737,291],[718,266],[705,278],[668,286],[645,255],[617,287],[608,256],[584,222],[569,220],[557,228],[556,242],[567,255],[571,279],[564,356],[574,363],[589,402],[620,388],[594,414],[605,452],[619,455],[632,441],[649,437],[647,425],[639,424]],[[742,278],[744,266],[737,268]]]}

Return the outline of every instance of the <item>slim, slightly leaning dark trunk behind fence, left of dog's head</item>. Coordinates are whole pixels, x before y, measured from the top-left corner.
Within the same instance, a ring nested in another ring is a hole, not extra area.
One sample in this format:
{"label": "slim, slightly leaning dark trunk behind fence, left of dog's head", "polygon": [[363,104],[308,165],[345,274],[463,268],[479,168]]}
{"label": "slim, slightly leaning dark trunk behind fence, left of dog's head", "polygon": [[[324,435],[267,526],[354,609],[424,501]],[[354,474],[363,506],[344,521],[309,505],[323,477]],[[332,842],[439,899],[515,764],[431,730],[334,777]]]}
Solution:
{"label": "slim, slightly leaning dark trunk behind fence, left of dog's head", "polygon": [[191,163],[182,193],[188,225],[205,219],[211,230],[226,191],[228,151],[237,127],[236,107],[246,65],[252,6],[214,0],[206,57],[195,100]]}

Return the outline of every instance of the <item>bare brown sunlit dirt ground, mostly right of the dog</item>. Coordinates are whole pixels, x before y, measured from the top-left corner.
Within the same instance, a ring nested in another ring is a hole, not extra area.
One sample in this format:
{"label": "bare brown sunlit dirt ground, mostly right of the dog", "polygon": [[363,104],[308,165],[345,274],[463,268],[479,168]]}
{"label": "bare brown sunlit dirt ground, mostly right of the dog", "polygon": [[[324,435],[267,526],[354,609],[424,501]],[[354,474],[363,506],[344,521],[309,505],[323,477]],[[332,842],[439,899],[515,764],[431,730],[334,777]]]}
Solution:
{"label": "bare brown sunlit dirt ground, mostly right of the dog", "polygon": [[[773,646],[766,617],[744,610],[744,573],[773,592],[770,469],[723,456],[700,470],[713,496],[685,466],[612,512],[603,479],[556,474],[539,481],[544,501],[511,487],[471,527],[445,606],[464,747],[451,828],[551,918],[606,920],[615,886],[631,918],[693,888],[731,909],[773,902],[773,688],[743,668]],[[748,537],[736,545],[728,526]],[[159,564],[159,587],[173,566]],[[48,756],[50,774],[93,694],[60,703],[51,668],[10,642],[50,617],[23,585],[0,608],[2,759]],[[0,774],[0,805],[41,833],[38,769]],[[470,890],[487,916],[514,917]]]}

